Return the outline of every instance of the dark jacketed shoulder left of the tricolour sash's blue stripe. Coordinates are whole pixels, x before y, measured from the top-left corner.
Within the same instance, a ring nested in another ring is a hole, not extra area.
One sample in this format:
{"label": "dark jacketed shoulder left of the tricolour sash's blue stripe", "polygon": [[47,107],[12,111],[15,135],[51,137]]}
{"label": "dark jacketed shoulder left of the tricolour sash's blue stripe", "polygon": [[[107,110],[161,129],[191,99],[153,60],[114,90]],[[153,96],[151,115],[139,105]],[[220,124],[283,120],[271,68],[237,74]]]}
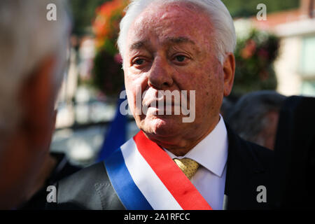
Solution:
{"label": "dark jacketed shoulder left of the tricolour sash's blue stripe", "polygon": [[81,169],[56,183],[55,209],[123,209],[104,162]]}

